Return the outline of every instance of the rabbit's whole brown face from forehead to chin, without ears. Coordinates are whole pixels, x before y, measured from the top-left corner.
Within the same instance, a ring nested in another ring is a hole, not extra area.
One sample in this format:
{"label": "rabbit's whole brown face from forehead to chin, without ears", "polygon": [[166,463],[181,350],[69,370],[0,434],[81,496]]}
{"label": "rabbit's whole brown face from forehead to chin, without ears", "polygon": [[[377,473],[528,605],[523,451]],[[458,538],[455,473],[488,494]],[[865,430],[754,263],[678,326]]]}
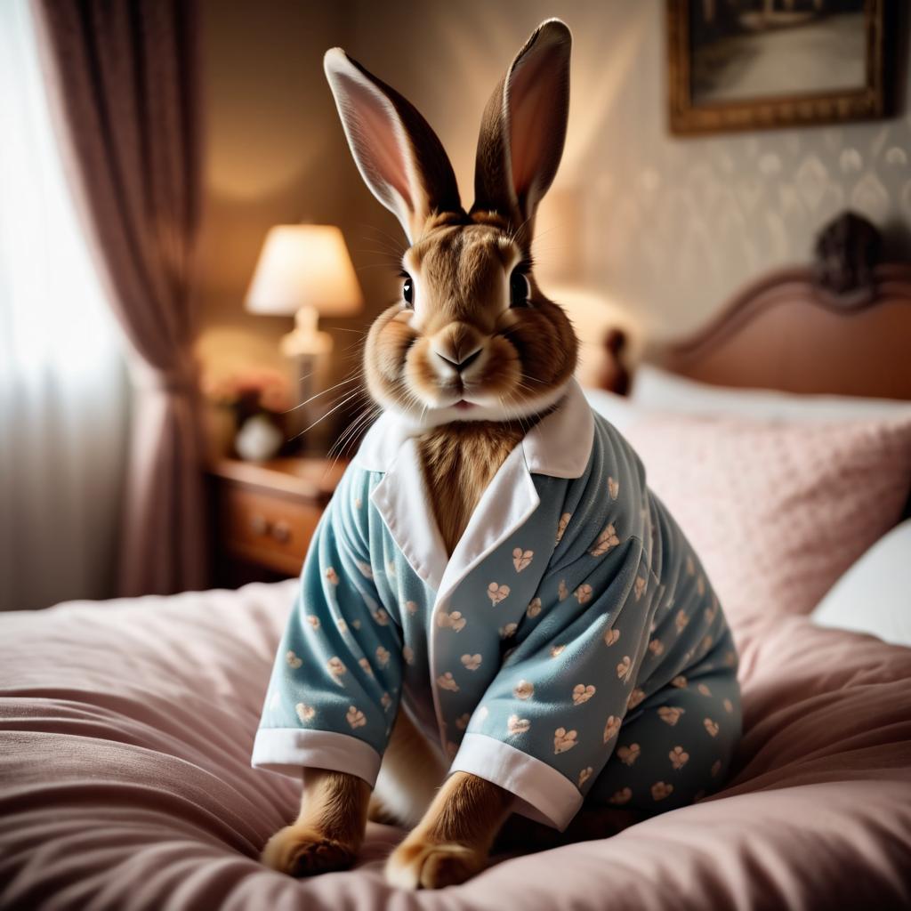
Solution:
{"label": "rabbit's whole brown face from forehead to chin, without ears", "polygon": [[527,273],[513,300],[511,277],[521,262],[496,232],[449,229],[433,240],[406,251],[407,293],[368,335],[364,376],[374,401],[428,427],[522,421],[546,411],[575,367],[565,314]]}

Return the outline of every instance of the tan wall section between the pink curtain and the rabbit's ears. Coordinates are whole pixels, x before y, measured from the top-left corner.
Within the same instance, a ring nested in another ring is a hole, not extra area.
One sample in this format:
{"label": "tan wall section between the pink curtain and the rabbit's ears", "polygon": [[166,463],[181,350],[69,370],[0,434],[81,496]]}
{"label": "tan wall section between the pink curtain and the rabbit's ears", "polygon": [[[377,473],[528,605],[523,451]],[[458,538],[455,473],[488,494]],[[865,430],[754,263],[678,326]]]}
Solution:
{"label": "tan wall section between the pink curtain and the rabbit's ears", "polygon": [[216,373],[276,363],[292,320],[243,311],[273,224],[344,220],[347,154],[322,76],[342,37],[341,5],[296,0],[203,3],[206,205],[200,239],[199,352]]}

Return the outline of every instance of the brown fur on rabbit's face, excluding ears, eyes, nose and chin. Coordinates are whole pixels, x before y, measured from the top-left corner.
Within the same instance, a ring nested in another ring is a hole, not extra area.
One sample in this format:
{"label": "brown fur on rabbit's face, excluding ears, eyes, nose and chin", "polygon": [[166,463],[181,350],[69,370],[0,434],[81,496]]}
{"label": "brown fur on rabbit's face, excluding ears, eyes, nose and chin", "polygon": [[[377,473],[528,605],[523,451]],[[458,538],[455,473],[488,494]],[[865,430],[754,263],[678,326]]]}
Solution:
{"label": "brown fur on rabbit's face, excluding ears, eyes, nose and chin", "polygon": [[[417,312],[394,304],[374,322],[364,347],[367,386],[381,404],[417,415],[462,390],[482,396],[507,419],[534,414],[535,400],[575,369],[576,334],[533,278],[532,305],[508,307],[509,271],[527,251],[501,220],[488,213],[448,218],[430,220],[430,230],[405,253]],[[478,344],[485,349],[483,369],[441,383],[435,352],[448,356]]]}

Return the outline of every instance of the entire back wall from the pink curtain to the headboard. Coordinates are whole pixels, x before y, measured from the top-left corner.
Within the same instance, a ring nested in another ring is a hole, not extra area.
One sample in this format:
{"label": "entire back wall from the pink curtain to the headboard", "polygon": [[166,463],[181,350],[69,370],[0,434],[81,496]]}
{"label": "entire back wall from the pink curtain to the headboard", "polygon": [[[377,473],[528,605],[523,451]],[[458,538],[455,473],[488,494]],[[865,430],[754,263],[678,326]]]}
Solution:
{"label": "entire back wall from the pink curtain to the headboard", "polygon": [[343,146],[322,76],[322,51],[333,44],[422,110],[468,196],[487,96],[538,22],[549,15],[568,22],[575,46],[567,151],[542,205],[536,256],[546,288],[571,283],[604,302],[583,304],[576,313],[583,322],[609,319],[612,304],[653,337],[689,333],[743,281],[806,261],[814,232],[837,211],[851,206],[887,228],[911,221],[907,114],[670,138],[664,6],[210,0],[204,356],[217,359],[232,345],[271,353],[288,328],[240,309],[261,237],[275,221],[306,216],[342,226],[369,301],[348,328],[389,300],[401,232]]}

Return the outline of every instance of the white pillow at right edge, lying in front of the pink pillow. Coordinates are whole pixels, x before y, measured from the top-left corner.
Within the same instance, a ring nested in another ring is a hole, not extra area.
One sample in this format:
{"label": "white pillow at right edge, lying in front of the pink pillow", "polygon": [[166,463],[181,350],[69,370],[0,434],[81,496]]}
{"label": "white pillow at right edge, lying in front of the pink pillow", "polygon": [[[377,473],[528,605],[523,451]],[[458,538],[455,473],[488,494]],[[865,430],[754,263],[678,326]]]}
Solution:
{"label": "white pillow at right edge, lying in front of the pink pillow", "polygon": [[814,623],[911,646],[911,519],[881,537],[813,612]]}

